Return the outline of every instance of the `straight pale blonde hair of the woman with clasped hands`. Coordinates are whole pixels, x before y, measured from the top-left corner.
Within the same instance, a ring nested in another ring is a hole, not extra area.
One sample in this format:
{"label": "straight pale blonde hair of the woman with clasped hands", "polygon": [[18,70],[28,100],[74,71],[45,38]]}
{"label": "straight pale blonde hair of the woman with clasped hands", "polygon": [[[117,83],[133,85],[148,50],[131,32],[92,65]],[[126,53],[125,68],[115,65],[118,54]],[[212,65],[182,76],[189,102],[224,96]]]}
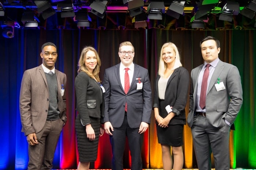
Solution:
{"label": "straight pale blonde hair of the woman with clasped hands", "polygon": [[161,48],[160,59],[159,59],[158,74],[160,76],[164,75],[165,70],[167,68],[167,64],[163,61],[163,48],[165,48],[165,47],[173,48],[173,50],[174,50],[174,52],[176,54],[175,61],[174,61],[174,66],[173,66],[172,70],[182,66],[182,64],[180,62],[180,55],[179,55],[179,52],[178,52],[178,48],[175,46],[175,44],[173,44],[171,42],[165,43],[165,44],[163,44],[163,46]]}

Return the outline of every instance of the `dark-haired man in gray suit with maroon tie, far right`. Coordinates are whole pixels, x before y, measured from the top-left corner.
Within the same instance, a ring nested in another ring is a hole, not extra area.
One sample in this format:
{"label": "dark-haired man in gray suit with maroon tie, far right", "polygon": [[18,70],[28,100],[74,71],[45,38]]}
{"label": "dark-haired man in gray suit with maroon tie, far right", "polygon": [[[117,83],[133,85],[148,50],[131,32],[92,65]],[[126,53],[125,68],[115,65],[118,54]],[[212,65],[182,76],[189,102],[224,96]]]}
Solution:
{"label": "dark-haired man in gray suit with maroon tie, far right", "polygon": [[[210,170],[212,152],[215,169],[229,170],[229,133],[242,105],[241,78],[236,66],[219,60],[220,42],[215,37],[204,38],[200,48],[204,64],[191,71],[187,118],[197,166]],[[207,70],[208,79],[203,81]]]}

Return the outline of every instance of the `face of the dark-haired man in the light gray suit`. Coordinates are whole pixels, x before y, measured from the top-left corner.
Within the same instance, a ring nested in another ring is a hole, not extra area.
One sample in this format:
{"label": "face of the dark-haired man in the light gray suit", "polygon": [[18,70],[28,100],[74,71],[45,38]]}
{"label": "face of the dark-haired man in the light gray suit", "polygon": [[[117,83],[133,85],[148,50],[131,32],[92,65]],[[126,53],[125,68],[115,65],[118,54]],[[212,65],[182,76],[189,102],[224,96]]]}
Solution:
{"label": "face of the dark-haired man in the light gray suit", "polygon": [[218,58],[221,48],[217,48],[215,40],[203,41],[201,45],[201,52],[206,63],[211,63]]}

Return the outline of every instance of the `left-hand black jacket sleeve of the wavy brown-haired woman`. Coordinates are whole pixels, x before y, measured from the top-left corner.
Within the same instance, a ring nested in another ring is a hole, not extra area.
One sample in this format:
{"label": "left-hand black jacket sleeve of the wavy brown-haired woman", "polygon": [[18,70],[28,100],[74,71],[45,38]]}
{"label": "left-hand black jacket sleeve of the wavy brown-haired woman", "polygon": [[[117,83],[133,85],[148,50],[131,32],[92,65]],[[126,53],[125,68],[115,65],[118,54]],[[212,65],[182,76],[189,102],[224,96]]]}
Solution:
{"label": "left-hand black jacket sleeve of the wavy brown-haired woman", "polygon": [[90,117],[87,108],[87,87],[89,85],[89,76],[84,72],[79,72],[75,78],[76,90],[76,110],[81,118],[83,126],[90,124]]}

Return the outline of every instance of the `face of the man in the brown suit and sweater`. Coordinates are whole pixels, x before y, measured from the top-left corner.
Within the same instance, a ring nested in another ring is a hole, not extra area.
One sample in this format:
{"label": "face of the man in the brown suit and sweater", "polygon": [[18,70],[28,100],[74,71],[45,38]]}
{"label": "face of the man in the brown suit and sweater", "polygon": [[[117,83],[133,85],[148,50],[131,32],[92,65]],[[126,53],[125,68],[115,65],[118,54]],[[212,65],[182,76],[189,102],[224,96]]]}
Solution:
{"label": "face of the man in the brown suit and sweater", "polygon": [[45,46],[40,53],[41,58],[43,59],[43,64],[49,70],[54,68],[54,64],[57,60],[57,50],[54,46]]}

